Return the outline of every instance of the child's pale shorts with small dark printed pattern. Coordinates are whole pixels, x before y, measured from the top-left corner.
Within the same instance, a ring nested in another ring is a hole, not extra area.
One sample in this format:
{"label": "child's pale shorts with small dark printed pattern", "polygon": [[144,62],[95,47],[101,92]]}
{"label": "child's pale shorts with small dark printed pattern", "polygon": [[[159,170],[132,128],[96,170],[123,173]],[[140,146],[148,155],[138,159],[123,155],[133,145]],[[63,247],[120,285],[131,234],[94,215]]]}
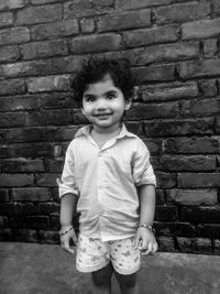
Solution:
{"label": "child's pale shorts with small dark printed pattern", "polygon": [[100,239],[78,237],[76,268],[80,272],[95,272],[109,262],[120,274],[132,274],[140,269],[141,254],[134,249],[134,237],[103,242]]}

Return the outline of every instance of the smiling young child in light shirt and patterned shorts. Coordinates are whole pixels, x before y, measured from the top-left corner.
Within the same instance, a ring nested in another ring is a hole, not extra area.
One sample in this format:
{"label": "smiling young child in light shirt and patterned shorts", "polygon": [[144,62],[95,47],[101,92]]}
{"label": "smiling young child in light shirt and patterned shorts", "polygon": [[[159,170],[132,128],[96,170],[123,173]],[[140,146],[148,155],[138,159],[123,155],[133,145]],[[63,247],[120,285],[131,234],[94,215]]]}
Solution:
{"label": "smiling young child in light shirt and patterned shorts", "polygon": [[[133,80],[127,59],[90,59],[74,80],[82,113],[91,126],[68,145],[59,181],[61,244],[76,268],[91,272],[94,293],[110,293],[114,273],[121,293],[139,293],[141,253],[157,243],[152,225],[155,175],[143,141],[122,123],[131,107]],[[80,214],[79,236],[72,226]]]}

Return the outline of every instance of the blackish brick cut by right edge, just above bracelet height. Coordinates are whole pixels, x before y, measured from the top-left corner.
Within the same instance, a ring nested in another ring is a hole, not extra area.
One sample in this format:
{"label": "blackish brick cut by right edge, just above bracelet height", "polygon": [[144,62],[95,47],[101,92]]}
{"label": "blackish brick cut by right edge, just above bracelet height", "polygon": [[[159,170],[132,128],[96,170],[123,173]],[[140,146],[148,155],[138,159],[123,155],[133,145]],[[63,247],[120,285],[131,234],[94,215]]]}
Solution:
{"label": "blackish brick cut by right edge, just above bracelet height", "polygon": [[200,224],[219,224],[220,208],[216,207],[183,207],[180,220]]}

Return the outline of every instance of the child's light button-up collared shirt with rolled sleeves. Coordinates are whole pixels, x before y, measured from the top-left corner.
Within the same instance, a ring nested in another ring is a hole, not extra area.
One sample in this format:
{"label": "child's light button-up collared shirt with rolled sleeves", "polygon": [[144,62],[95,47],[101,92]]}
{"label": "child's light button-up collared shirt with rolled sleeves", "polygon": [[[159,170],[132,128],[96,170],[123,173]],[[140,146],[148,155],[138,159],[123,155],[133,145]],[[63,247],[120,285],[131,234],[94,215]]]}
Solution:
{"label": "child's light button-up collared shirt with rolled sleeves", "polygon": [[156,185],[150,152],[125,126],[99,149],[91,126],[79,129],[69,143],[59,197],[77,195],[81,233],[102,241],[132,237],[139,226],[138,187]]}

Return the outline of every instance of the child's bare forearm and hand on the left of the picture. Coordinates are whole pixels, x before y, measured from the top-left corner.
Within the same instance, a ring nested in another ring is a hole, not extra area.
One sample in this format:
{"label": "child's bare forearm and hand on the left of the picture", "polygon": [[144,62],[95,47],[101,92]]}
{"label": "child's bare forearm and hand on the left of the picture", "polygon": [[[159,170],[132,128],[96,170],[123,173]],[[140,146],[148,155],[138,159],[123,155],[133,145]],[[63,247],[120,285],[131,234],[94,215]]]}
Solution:
{"label": "child's bare forearm and hand on the left of the picture", "polygon": [[77,243],[77,237],[74,227],[72,226],[73,216],[76,210],[77,199],[78,196],[72,193],[65,194],[61,199],[61,244],[63,249],[68,251],[69,253],[75,253],[74,249],[69,246],[70,239],[74,241],[75,244]]}

